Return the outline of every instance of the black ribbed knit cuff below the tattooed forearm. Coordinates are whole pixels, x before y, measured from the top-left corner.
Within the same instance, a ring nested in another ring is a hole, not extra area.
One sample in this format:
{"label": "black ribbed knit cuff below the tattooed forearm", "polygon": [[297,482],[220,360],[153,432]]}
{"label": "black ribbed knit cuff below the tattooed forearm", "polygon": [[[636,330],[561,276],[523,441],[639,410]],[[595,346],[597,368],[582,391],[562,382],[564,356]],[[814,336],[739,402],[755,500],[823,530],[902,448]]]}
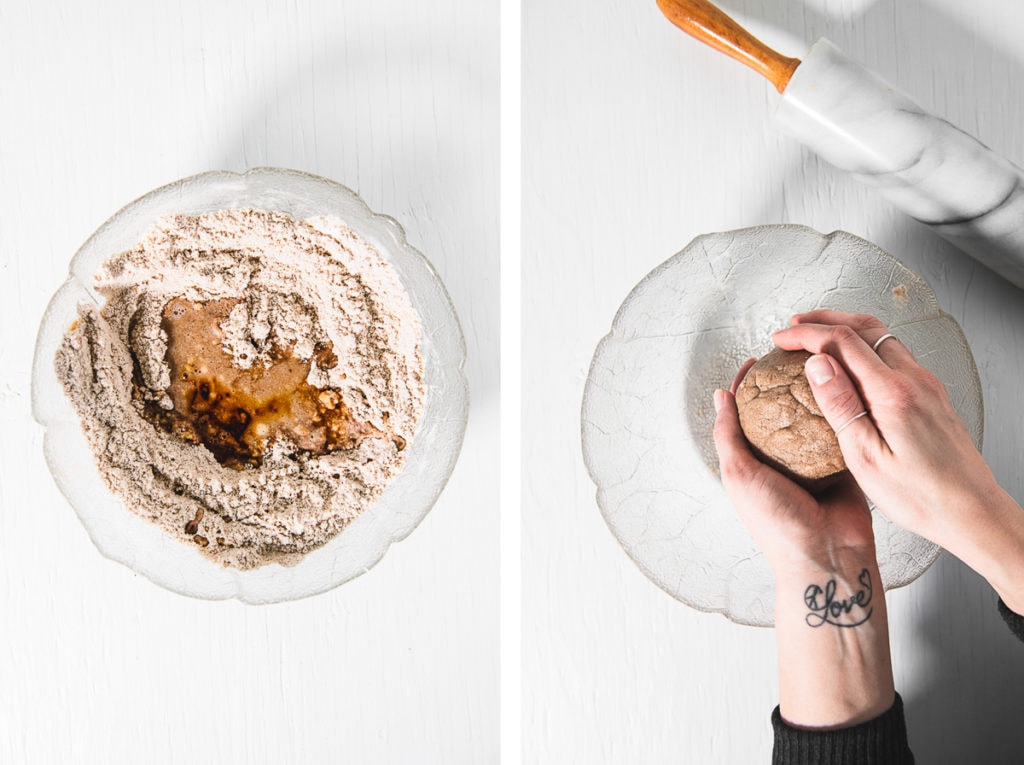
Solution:
{"label": "black ribbed knit cuff below the tattooed forearm", "polygon": [[888,711],[849,728],[795,728],[782,719],[778,707],[771,724],[772,765],[913,765],[899,693]]}

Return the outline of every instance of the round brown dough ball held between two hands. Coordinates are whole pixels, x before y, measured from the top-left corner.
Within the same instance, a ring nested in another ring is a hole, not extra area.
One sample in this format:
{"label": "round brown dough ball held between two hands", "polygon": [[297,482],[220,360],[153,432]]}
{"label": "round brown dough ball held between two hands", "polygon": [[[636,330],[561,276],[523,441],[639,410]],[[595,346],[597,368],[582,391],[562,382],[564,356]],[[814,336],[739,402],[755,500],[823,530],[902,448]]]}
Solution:
{"label": "round brown dough ball held between two hands", "polygon": [[811,354],[775,350],[746,372],[736,389],[739,425],[763,462],[810,488],[846,470],[831,426],[804,374]]}

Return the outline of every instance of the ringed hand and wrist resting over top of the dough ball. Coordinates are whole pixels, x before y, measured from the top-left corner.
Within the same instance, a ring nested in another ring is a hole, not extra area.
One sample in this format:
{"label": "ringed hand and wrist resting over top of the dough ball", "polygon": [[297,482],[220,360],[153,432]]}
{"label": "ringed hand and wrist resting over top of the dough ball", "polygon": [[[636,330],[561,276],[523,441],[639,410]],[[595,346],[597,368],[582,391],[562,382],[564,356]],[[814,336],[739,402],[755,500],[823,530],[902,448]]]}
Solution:
{"label": "ringed hand and wrist resting over top of the dough ball", "polygon": [[1024,513],[999,487],[942,383],[898,339],[874,348],[886,334],[873,316],[816,310],[794,316],[773,339],[815,354],[805,367],[811,391],[867,496],[1024,612]]}

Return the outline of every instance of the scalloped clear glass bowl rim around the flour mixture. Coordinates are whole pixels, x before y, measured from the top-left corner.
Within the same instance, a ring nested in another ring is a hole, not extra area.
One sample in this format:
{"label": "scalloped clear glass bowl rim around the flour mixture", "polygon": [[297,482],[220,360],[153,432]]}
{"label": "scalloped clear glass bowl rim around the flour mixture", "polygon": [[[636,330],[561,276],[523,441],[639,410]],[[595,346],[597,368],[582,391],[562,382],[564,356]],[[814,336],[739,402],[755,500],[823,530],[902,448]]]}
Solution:
{"label": "scalloped clear glass bowl rim around the flour mixture", "polygon": [[[380,499],[331,542],[297,565],[224,568],[127,510],[103,483],[82,426],[56,378],[53,356],[81,301],[102,303],[93,274],[111,255],[133,246],[165,213],[239,207],[298,218],[334,215],[394,266],[420,315],[426,399],[401,471]],[[423,519],[444,487],[462,447],[469,409],[466,348],[455,309],[427,259],[393,219],[373,213],[350,189],[326,178],[276,168],[210,172],[158,188],[116,213],[71,261],[39,330],[32,379],[33,415],[45,428],[46,461],[99,551],[153,582],[198,598],[265,603],[313,595],[373,566],[392,542]]]}

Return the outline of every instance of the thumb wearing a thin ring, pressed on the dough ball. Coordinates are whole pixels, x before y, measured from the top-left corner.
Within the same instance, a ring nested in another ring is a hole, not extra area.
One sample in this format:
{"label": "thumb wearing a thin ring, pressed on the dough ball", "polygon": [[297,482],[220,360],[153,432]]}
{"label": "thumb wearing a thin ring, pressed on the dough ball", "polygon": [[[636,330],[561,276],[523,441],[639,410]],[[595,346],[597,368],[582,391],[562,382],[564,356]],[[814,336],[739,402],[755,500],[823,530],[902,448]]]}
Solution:
{"label": "thumb wearing a thin ring, pressed on the dough ball", "polygon": [[843,456],[865,454],[879,445],[882,437],[863,399],[843,365],[819,353],[804,365],[807,382],[818,409],[836,431]]}

